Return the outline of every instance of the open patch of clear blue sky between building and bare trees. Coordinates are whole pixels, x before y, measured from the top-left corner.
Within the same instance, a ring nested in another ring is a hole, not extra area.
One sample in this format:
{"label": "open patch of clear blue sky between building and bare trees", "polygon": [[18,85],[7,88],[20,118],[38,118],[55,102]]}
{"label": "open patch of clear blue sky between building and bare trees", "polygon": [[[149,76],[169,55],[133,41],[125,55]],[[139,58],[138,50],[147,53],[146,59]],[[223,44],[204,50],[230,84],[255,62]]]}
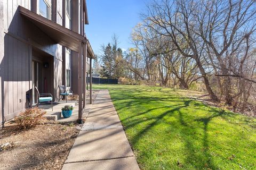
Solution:
{"label": "open patch of clear blue sky between building and bare trees", "polygon": [[101,45],[107,45],[114,33],[119,37],[119,47],[130,45],[132,28],[139,23],[140,13],[149,0],[87,0],[89,25],[85,33],[95,54],[100,53]]}

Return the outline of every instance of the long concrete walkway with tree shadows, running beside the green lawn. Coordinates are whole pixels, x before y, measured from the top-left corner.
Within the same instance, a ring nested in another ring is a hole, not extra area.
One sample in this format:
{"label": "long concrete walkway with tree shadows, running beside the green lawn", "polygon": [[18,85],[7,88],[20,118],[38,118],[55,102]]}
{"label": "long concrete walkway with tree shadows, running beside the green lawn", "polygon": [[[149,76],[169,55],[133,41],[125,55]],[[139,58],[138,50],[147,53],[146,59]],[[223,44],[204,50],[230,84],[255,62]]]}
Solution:
{"label": "long concrete walkway with tree shadows, running beside the green lawn", "polygon": [[62,169],[139,169],[108,90],[99,91]]}

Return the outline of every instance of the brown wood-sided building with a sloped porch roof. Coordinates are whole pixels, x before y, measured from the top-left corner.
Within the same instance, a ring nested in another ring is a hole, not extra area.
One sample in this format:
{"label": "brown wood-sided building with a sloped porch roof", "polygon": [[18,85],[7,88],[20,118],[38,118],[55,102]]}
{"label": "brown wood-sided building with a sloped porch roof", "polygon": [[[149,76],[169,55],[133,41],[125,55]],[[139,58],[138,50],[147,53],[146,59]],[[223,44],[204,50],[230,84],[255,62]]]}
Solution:
{"label": "brown wood-sided building with a sloped porch roof", "polygon": [[85,0],[0,1],[1,122],[37,102],[35,86],[56,101],[61,84],[79,95],[82,121],[86,72],[94,58],[88,23]]}

